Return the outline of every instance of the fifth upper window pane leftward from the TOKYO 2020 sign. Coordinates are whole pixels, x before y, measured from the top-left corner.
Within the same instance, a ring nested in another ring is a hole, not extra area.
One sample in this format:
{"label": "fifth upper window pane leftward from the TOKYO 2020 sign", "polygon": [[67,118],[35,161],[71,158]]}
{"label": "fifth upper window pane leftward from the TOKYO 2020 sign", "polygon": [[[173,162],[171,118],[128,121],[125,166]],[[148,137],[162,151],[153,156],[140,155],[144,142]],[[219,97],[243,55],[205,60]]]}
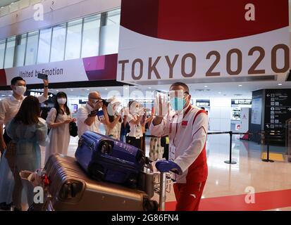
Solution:
{"label": "fifth upper window pane leftward from the TOKYO 2020 sign", "polygon": [[51,49],[51,27],[40,30],[37,64],[49,63],[49,51]]}

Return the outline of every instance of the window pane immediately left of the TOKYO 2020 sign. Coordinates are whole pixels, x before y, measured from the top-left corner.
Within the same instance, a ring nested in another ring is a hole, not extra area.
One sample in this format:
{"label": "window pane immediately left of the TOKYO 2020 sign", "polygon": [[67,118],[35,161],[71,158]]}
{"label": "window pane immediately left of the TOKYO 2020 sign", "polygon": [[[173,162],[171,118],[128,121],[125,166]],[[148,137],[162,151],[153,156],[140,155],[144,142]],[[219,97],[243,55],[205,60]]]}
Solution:
{"label": "window pane immediately left of the TOKYO 2020 sign", "polygon": [[101,27],[100,55],[118,53],[120,9],[107,14],[106,26]]}

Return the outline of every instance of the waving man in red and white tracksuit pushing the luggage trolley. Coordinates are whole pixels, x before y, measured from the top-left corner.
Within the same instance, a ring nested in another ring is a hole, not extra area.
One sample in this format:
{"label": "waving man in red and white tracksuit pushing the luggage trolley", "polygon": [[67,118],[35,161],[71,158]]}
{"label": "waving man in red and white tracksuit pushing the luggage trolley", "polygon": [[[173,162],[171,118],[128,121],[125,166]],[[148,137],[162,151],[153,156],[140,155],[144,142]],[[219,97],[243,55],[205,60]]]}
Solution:
{"label": "waving man in red and white tracksuit pushing the luggage trolley", "polygon": [[[181,91],[170,99],[171,112],[166,116],[158,115],[150,126],[151,135],[169,136],[169,161],[158,161],[156,168],[161,172],[173,171],[176,211],[198,210],[208,169],[206,163],[206,136],[208,130],[208,116],[201,108],[190,104],[191,96],[186,84],[175,83],[170,91]],[[171,97],[170,97],[171,98]],[[165,106],[161,97],[156,109],[161,111]],[[182,105],[182,108],[179,105]],[[173,167],[175,165],[176,167]]]}

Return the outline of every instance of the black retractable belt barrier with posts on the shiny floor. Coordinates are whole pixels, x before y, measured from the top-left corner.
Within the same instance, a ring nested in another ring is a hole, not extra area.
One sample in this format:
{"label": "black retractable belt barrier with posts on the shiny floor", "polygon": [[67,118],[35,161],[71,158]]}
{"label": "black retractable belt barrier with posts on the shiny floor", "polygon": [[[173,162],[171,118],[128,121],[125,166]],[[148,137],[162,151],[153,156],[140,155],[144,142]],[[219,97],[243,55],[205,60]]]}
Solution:
{"label": "black retractable belt barrier with posts on the shiny floor", "polygon": [[[221,132],[208,132],[207,135],[213,135],[213,134],[229,134],[230,135],[230,158],[229,160],[225,160],[224,162],[227,163],[227,164],[236,164],[237,162],[233,161],[232,159],[232,147],[233,147],[233,135],[234,134],[240,134],[240,135],[244,135],[244,134],[248,134],[248,135],[255,135],[255,134],[260,134],[260,135],[263,135],[263,136],[267,136],[267,159],[266,160],[262,160],[264,162],[274,162],[273,160],[270,160],[269,159],[269,151],[270,151],[270,144],[269,144],[269,135],[266,135],[266,134],[269,134],[271,133],[271,131],[258,131],[258,132],[254,132],[254,133],[239,133],[239,132],[233,132],[233,131],[221,131]],[[156,138],[156,136],[154,135],[145,135],[145,137],[147,138]]]}

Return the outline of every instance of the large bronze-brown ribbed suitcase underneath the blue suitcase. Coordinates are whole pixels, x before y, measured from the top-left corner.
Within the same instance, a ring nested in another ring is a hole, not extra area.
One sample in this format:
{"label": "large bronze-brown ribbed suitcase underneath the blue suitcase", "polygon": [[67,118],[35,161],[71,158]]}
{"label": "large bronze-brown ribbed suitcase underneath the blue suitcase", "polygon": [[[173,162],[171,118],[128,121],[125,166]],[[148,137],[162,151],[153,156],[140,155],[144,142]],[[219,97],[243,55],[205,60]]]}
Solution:
{"label": "large bronze-brown ribbed suitcase underneath the blue suitcase", "polygon": [[44,204],[30,210],[155,211],[156,201],[143,191],[96,181],[80,168],[75,158],[51,155],[44,167],[49,178]]}

